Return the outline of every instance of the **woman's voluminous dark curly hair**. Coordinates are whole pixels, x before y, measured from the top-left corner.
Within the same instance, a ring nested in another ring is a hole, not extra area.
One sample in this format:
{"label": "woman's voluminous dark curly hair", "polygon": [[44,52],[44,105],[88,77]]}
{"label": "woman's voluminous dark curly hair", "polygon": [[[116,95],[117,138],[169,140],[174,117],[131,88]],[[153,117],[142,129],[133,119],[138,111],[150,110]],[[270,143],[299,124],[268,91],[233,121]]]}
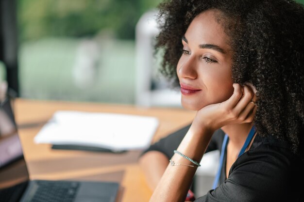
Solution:
{"label": "woman's voluminous dark curly hair", "polygon": [[[261,136],[287,141],[304,154],[304,8],[293,0],[169,0],[159,6],[161,72],[178,81],[182,36],[195,16],[220,11],[233,49],[232,79],[257,89],[254,124]],[[178,85],[178,82],[175,82]]]}

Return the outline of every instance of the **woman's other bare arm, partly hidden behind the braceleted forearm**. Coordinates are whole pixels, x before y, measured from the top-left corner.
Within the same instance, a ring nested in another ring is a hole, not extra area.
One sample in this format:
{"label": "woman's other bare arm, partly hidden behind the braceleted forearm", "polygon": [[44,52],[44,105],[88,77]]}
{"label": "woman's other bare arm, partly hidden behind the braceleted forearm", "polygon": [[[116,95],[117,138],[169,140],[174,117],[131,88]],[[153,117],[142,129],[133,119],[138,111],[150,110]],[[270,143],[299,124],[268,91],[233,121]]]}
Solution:
{"label": "woman's other bare arm, partly hidden behind the braceleted forearm", "polygon": [[158,151],[150,151],[139,159],[139,165],[145,173],[149,187],[154,190],[169,163],[166,155]]}

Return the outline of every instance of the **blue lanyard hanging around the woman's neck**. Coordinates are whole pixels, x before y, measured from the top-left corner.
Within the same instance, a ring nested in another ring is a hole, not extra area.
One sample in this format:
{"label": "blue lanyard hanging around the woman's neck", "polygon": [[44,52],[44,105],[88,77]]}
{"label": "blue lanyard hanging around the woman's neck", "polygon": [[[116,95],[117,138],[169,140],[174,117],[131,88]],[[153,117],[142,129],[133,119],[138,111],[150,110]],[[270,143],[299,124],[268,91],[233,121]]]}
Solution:
{"label": "blue lanyard hanging around the woman's neck", "polygon": [[[253,126],[245,140],[245,143],[241,149],[241,151],[239,152],[238,156],[239,157],[240,155],[244,154],[246,148],[248,147],[248,145],[250,144],[251,140],[253,139],[253,136],[254,136],[254,133],[255,133],[255,127]],[[220,165],[219,165],[219,170],[217,172],[217,175],[215,176],[215,179],[214,179],[214,182],[213,182],[213,186],[212,188],[215,189],[218,184],[219,184],[219,181],[220,181],[220,173],[221,173],[221,170],[222,170],[222,167],[223,167],[223,161],[224,161],[224,154],[225,154],[225,149],[226,149],[226,146],[227,146],[227,141],[228,141],[228,135],[225,134],[225,137],[224,137],[224,140],[223,140],[223,144],[221,145],[221,152],[220,152]]]}

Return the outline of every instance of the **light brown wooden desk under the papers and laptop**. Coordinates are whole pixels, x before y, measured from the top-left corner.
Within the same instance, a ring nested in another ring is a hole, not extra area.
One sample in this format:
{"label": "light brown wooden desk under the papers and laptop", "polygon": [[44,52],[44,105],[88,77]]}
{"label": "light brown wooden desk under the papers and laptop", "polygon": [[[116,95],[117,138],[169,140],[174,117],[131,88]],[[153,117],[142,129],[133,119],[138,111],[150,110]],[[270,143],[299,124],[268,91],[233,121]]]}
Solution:
{"label": "light brown wooden desk under the papers and laptop", "polygon": [[127,105],[33,101],[17,99],[16,121],[31,179],[78,179],[120,183],[117,202],[148,202],[152,191],[137,164],[140,151],[109,154],[85,151],[52,150],[49,144],[33,139],[56,110],[110,112],[155,116],[159,127],[153,142],[191,123],[195,112],[185,109],[138,108]]}

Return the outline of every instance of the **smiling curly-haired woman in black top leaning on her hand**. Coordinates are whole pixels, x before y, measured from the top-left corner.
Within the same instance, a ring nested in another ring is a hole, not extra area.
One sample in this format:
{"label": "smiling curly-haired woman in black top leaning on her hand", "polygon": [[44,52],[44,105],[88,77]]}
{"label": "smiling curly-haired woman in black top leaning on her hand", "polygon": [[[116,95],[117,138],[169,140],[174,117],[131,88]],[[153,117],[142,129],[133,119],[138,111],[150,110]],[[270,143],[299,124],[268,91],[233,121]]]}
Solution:
{"label": "smiling curly-haired woman in black top leaning on her hand", "polygon": [[160,14],[163,73],[197,114],[169,164],[157,152],[141,157],[147,172],[166,164],[150,202],[185,201],[198,162],[219,137],[219,182],[197,202],[304,201],[303,6],[170,0]]}

